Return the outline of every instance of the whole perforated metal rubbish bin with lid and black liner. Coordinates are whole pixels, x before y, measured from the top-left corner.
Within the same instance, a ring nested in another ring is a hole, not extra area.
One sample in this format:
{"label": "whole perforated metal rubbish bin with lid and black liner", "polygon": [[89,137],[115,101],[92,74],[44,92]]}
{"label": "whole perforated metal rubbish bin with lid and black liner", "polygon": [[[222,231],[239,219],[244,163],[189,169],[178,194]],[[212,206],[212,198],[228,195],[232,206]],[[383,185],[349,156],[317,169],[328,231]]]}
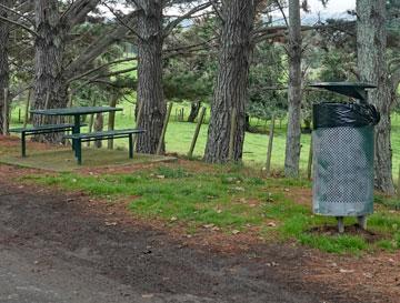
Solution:
{"label": "whole perforated metal rubbish bin with lid and black liner", "polygon": [[313,212],[357,216],[366,228],[373,212],[373,127],[380,115],[367,103],[368,83],[324,82],[313,88],[357,99],[357,102],[321,102],[313,105]]}

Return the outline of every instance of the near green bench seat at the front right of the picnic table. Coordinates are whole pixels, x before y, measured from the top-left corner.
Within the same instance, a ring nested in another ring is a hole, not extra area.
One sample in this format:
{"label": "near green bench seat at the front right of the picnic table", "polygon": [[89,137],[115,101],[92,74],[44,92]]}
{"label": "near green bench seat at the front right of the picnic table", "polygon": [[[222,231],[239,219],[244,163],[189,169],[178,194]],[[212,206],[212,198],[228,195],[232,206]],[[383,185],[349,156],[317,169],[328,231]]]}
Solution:
{"label": "near green bench seat at the front right of the picnic table", "polygon": [[97,140],[108,140],[108,139],[129,139],[129,158],[133,158],[133,134],[143,133],[143,129],[124,129],[124,130],[110,130],[110,131],[99,131],[99,132],[89,132],[89,133],[72,133],[64,135],[66,139],[72,139],[76,143],[76,158],[78,164],[82,164],[82,142],[97,141]]}

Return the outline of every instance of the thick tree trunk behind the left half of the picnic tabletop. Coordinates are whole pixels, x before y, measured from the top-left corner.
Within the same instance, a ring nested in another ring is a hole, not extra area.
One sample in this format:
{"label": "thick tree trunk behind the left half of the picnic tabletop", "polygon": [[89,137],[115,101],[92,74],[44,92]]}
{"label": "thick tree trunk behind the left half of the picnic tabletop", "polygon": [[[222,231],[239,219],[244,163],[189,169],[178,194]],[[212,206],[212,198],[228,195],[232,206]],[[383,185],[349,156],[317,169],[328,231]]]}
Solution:
{"label": "thick tree trunk behind the left half of the picnic tabletop", "polygon": [[[66,29],[59,23],[58,1],[34,1],[36,27],[34,41],[34,103],[33,109],[66,108],[68,104],[68,84],[63,77],[63,51]],[[60,118],[33,117],[33,124],[57,123]],[[46,134],[41,140],[60,142],[62,133]]]}

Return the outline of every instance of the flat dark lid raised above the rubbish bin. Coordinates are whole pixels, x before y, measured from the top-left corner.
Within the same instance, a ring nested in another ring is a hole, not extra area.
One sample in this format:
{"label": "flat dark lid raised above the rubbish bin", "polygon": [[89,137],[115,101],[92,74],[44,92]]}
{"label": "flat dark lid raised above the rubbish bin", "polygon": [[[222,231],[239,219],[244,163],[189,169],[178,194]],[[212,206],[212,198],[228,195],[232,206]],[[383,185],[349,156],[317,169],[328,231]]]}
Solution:
{"label": "flat dark lid raised above the rubbish bin", "polygon": [[377,85],[366,82],[318,82],[312,83],[309,87],[326,89],[362,101],[367,101],[366,89],[377,88]]}

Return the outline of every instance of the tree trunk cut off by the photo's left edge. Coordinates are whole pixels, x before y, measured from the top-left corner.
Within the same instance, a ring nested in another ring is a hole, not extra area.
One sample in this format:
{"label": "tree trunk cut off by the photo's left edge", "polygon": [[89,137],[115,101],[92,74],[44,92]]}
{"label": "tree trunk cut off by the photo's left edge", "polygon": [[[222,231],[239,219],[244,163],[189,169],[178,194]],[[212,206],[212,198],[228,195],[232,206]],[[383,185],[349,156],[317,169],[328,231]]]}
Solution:
{"label": "tree trunk cut off by the photo's left edge", "polygon": [[[0,0],[1,4],[9,6],[10,0]],[[0,9],[0,16],[7,18],[6,10]],[[0,133],[3,133],[3,109],[4,109],[4,89],[9,88],[9,60],[8,60],[8,40],[10,34],[10,24],[0,22]]]}

